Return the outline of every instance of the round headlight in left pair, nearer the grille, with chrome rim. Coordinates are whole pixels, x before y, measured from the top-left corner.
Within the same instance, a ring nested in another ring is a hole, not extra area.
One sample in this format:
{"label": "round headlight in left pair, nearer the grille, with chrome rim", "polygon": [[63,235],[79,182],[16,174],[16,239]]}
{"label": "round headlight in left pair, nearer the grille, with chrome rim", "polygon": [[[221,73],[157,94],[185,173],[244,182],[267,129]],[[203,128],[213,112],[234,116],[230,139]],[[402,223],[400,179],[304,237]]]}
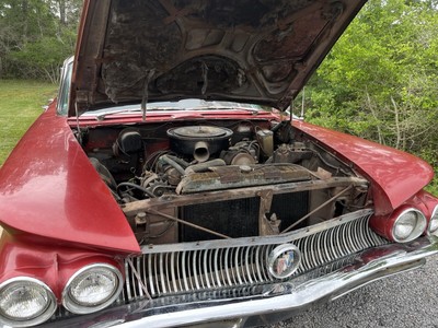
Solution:
{"label": "round headlight in left pair, nearer the grille, with chrome rim", "polygon": [[87,266],[67,282],[62,304],[76,314],[93,313],[113,303],[122,286],[122,273],[115,267],[105,263]]}

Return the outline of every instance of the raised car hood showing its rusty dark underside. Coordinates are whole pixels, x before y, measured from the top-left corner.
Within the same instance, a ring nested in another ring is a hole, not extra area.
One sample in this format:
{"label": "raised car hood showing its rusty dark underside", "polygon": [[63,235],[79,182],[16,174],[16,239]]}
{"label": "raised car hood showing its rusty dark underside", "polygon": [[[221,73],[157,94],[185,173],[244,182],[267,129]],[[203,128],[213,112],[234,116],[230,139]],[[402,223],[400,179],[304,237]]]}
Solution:
{"label": "raised car hood showing its rusty dark underside", "polygon": [[85,1],[69,115],[187,97],[285,109],[366,1]]}

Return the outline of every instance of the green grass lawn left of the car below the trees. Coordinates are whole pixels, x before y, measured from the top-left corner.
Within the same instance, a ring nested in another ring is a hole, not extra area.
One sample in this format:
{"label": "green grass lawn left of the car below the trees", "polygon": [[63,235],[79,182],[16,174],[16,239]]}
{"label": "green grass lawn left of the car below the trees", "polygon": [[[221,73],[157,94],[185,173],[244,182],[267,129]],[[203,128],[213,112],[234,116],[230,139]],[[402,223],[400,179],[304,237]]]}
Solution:
{"label": "green grass lawn left of the car below the trees", "polygon": [[57,93],[57,85],[39,81],[0,80],[0,166],[42,106]]}

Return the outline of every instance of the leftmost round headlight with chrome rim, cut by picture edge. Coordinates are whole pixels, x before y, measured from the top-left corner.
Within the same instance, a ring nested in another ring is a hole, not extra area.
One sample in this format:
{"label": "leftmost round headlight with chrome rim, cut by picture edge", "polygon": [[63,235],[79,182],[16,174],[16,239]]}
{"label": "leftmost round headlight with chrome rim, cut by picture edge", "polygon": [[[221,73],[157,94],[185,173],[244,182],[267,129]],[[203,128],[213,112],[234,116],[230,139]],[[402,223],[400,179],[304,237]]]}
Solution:
{"label": "leftmost round headlight with chrome rim, cut by picture edge", "polygon": [[0,323],[28,327],[46,321],[55,313],[56,297],[39,280],[16,277],[0,284]]}

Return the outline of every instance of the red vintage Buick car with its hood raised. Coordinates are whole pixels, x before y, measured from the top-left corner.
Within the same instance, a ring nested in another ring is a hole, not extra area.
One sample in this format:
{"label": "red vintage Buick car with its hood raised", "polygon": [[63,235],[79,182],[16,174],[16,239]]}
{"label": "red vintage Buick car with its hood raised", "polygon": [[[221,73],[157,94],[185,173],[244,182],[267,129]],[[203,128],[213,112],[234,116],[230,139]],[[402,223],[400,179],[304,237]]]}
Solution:
{"label": "red vintage Buick car with its hood raised", "polygon": [[1,325],[257,326],[436,254],[427,163],[281,114],[362,4],[85,1],[0,172]]}

